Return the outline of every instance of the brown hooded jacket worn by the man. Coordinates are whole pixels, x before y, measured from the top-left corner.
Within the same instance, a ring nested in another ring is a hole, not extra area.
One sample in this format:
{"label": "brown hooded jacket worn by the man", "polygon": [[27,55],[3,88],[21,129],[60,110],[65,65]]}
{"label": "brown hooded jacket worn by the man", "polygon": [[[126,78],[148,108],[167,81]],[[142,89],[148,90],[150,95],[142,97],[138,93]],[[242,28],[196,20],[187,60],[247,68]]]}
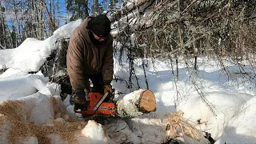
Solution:
{"label": "brown hooded jacket worn by the man", "polygon": [[103,42],[94,42],[87,17],[70,36],[66,65],[73,90],[84,90],[88,83],[85,75],[102,73],[104,82],[110,82],[114,74],[113,38],[111,34]]}

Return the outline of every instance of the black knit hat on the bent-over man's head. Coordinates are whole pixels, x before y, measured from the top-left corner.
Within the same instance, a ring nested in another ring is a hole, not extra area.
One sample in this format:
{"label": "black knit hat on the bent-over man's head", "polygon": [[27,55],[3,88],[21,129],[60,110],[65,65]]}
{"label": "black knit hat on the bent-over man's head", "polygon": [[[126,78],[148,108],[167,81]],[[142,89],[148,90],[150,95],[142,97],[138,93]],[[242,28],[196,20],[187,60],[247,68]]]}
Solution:
{"label": "black knit hat on the bent-over man's head", "polygon": [[90,20],[88,24],[90,30],[98,35],[98,37],[106,38],[110,34],[110,19],[106,17],[106,14],[98,15]]}

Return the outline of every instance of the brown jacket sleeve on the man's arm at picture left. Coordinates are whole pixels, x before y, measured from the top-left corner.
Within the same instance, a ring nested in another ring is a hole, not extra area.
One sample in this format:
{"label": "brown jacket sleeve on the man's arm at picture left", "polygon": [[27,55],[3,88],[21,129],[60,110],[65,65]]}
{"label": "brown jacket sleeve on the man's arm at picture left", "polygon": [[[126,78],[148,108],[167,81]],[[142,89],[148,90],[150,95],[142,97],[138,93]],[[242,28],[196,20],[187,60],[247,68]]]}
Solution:
{"label": "brown jacket sleeve on the man's arm at picture left", "polygon": [[83,48],[77,39],[70,38],[70,44],[66,55],[67,72],[73,90],[84,90],[86,84],[83,75]]}

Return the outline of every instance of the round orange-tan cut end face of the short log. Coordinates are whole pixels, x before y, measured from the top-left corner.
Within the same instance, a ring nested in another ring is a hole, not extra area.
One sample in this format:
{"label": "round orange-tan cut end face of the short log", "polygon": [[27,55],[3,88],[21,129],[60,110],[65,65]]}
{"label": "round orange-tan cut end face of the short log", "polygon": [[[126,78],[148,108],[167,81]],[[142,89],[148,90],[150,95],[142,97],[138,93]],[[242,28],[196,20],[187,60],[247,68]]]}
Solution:
{"label": "round orange-tan cut end face of the short log", "polygon": [[144,112],[152,112],[156,110],[154,93],[150,90],[144,90],[141,94],[140,108]]}

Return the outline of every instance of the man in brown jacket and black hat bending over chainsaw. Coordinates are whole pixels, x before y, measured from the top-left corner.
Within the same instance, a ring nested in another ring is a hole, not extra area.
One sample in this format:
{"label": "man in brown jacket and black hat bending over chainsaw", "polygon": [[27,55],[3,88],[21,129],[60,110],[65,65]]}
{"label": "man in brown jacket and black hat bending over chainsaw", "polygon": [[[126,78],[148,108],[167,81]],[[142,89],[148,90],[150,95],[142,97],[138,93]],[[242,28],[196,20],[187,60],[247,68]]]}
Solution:
{"label": "man in brown jacket and black hat bending over chainsaw", "polygon": [[113,38],[110,34],[110,19],[106,14],[87,17],[70,36],[66,65],[74,90],[74,104],[82,109],[90,92],[112,93],[114,73]]}

